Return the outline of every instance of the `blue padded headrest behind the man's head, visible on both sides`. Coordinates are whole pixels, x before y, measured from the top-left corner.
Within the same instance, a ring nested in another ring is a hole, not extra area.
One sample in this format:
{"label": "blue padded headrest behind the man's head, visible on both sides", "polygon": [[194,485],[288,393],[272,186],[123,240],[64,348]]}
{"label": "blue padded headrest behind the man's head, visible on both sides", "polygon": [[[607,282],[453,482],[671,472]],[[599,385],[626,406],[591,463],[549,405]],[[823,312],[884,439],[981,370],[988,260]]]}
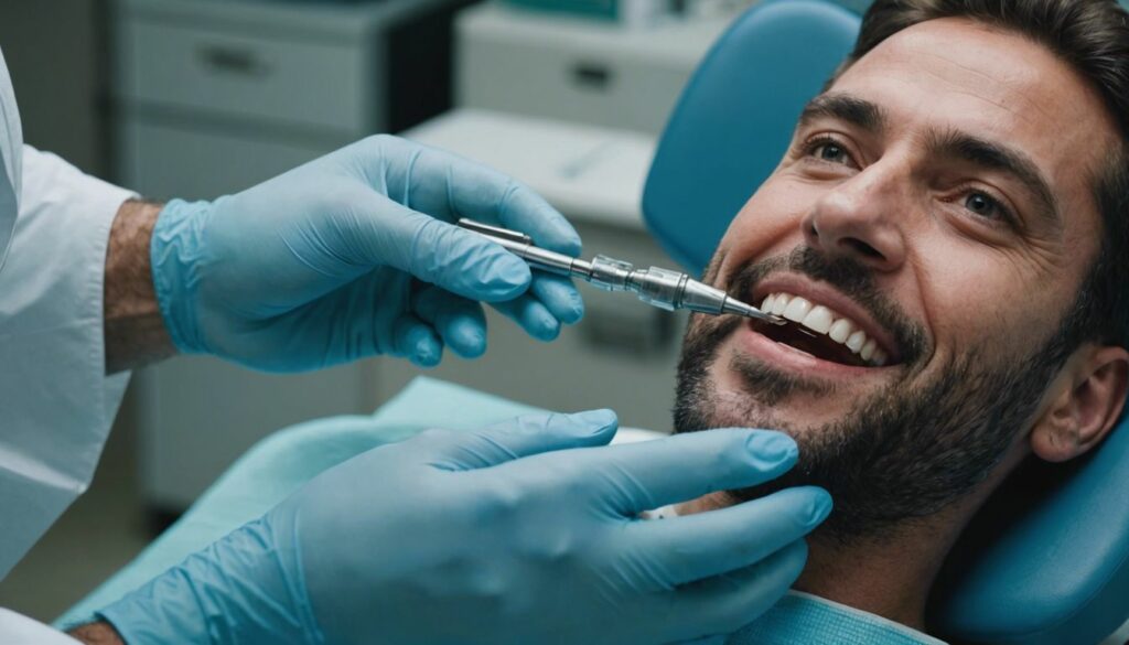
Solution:
{"label": "blue padded headrest behind the man's head, visible on both sides", "polygon": [[[704,268],[774,169],[858,27],[838,3],[769,0],[706,56],[663,133],[642,201],[651,233],[689,270]],[[1032,463],[1008,479],[946,563],[930,599],[937,631],[1073,645],[1096,643],[1129,617],[1127,426],[1086,459]]]}

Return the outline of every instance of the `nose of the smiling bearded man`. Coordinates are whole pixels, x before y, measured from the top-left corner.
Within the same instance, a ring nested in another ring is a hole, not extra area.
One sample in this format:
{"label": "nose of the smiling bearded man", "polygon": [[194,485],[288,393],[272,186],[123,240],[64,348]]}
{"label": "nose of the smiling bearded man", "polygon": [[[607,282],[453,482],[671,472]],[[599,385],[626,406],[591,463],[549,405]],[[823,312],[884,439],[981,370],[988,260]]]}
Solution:
{"label": "nose of the smiling bearded man", "polygon": [[899,212],[910,204],[899,198],[896,178],[881,173],[870,166],[820,198],[803,221],[807,245],[876,271],[901,267],[905,218]]}

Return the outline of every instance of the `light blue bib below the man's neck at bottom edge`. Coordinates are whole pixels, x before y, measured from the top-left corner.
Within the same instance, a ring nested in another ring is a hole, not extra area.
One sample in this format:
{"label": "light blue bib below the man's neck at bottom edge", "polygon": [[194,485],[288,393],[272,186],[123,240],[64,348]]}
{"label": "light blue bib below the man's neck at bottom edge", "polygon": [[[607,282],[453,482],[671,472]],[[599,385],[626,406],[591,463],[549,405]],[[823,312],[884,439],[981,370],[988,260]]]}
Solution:
{"label": "light blue bib below the man's neck at bottom edge", "polygon": [[942,640],[803,593],[789,593],[726,645],[938,645]]}

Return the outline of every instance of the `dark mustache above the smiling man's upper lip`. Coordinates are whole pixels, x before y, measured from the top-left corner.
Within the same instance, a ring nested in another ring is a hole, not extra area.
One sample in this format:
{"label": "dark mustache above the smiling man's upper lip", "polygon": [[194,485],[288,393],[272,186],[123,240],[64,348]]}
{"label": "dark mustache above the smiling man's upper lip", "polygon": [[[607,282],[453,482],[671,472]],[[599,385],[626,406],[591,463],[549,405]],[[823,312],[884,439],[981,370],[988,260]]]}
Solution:
{"label": "dark mustache above the smiling man's upper lip", "polygon": [[[788,255],[742,264],[726,291],[737,299],[745,298],[765,278],[785,270],[826,282],[857,302],[893,335],[901,363],[909,365],[926,356],[925,328],[878,288],[873,270],[851,258],[828,258],[811,246],[797,246]],[[759,306],[759,303],[750,304]]]}

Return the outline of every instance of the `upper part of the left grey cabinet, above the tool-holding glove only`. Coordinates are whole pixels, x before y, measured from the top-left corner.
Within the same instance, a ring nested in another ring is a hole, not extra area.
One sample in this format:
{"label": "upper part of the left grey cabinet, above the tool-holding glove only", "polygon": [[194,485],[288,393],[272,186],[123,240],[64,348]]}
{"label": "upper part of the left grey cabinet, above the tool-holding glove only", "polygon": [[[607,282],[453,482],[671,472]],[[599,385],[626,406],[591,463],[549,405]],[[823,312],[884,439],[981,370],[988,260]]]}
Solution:
{"label": "upper part of the left grey cabinet, above the tool-holding glove only", "polygon": [[116,0],[117,178],[213,197],[447,110],[470,1]]}

